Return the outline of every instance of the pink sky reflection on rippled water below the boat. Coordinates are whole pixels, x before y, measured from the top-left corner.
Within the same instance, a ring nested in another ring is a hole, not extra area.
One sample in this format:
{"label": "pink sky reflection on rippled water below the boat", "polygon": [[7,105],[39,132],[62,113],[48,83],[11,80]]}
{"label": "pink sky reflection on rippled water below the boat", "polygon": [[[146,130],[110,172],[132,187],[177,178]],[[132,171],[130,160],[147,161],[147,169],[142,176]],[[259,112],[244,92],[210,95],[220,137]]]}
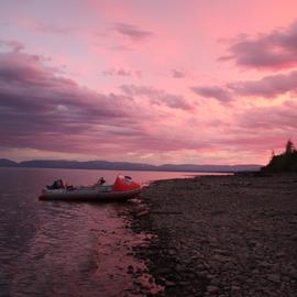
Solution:
{"label": "pink sky reflection on rippled water below the boat", "polygon": [[125,258],[121,241],[129,234],[109,206],[48,204],[40,222],[13,263],[12,296],[117,296],[131,283],[116,265]]}

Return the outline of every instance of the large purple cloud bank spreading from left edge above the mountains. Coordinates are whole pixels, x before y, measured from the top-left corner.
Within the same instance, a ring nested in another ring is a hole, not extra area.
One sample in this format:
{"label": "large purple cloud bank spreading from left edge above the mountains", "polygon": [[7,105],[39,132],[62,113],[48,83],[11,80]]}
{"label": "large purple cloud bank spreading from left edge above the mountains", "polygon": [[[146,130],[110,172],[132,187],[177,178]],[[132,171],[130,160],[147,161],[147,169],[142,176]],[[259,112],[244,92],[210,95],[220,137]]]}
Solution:
{"label": "large purple cloud bank spreading from left edge above the mountains", "polygon": [[[168,133],[175,125],[170,114],[162,119],[154,109],[190,110],[183,97],[133,86],[122,87],[125,95],[102,95],[58,73],[36,55],[0,54],[2,147],[80,154],[197,147],[195,141],[182,141],[182,131]],[[142,100],[134,99],[139,96]]]}

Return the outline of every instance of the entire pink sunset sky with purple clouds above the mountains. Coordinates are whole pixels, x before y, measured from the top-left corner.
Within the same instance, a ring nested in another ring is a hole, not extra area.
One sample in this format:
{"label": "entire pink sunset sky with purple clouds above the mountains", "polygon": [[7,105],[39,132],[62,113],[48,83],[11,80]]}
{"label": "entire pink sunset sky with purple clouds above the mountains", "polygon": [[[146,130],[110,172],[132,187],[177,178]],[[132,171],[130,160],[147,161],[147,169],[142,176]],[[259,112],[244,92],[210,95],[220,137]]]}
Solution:
{"label": "entire pink sunset sky with purple clouds above the mountains", "polygon": [[266,164],[297,135],[296,0],[3,0],[0,157]]}

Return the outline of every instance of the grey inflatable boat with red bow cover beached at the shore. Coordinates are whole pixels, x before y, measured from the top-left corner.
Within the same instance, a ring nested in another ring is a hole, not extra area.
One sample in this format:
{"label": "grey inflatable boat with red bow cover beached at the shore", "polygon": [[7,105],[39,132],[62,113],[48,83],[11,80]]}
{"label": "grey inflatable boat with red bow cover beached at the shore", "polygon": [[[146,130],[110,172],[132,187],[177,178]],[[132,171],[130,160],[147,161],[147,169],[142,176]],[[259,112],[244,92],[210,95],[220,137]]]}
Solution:
{"label": "grey inflatable boat with red bow cover beached at the shore", "polygon": [[113,185],[105,185],[99,179],[94,186],[64,186],[56,180],[43,189],[40,200],[72,200],[72,201],[125,201],[141,193],[142,186],[129,176],[119,175]]}

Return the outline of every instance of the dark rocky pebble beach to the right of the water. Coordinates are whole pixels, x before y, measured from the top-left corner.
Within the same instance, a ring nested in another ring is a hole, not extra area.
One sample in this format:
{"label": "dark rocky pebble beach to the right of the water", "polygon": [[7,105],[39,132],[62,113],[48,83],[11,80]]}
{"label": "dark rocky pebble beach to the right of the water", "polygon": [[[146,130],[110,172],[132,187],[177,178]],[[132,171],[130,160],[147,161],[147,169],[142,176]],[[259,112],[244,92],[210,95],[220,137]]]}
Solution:
{"label": "dark rocky pebble beach to the right of the water", "polygon": [[134,253],[162,289],[143,295],[297,296],[297,175],[155,182],[129,216],[153,234]]}

